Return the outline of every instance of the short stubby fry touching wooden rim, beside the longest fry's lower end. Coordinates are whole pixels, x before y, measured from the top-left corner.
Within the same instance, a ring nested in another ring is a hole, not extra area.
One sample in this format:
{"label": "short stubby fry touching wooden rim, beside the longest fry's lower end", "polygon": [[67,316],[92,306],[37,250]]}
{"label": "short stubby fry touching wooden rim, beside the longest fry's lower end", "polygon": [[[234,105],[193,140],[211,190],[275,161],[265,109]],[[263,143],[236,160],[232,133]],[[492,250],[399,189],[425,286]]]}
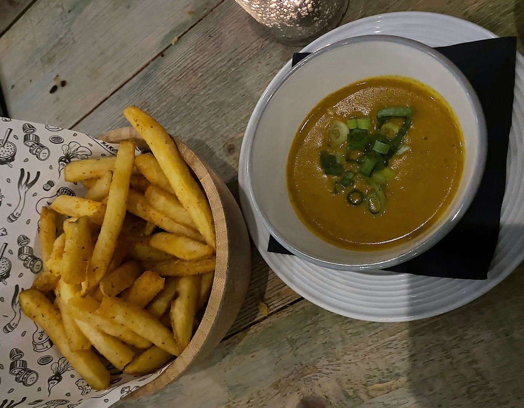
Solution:
{"label": "short stubby fry touching wooden rim, beside the longest fry's lower end", "polygon": [[186,261],[202,259],[213,254],[211,246],[169,232],[152,234],[149,245]]}

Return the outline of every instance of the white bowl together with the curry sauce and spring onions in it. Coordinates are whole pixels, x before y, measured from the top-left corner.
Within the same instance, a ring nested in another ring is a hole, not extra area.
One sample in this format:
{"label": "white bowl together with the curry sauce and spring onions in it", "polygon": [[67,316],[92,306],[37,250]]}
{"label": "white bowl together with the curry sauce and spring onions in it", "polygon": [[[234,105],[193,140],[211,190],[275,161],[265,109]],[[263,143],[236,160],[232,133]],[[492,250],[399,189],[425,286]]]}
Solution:
{"label": "white bowl together with the curry sauce and spring onions in it", "polygon": [[482,107],[451,61],[371,35],[283,71],[245,134],[247,194],[281,245],[307,262],[363,271],[409,260],[451,231],[487,152]]}

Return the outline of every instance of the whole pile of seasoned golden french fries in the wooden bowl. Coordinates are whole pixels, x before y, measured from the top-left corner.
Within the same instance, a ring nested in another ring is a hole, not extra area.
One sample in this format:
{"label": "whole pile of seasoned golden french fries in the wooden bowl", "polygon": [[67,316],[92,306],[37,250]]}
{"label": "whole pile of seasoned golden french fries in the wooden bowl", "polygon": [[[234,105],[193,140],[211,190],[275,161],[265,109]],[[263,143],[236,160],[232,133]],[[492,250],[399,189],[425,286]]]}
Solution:
{"label": "whole pile of seasoned golden french fries in the wooden bowl", "polygon": [[146,112],[129,106],[124,116],[152,154],[135,157],[124,141],[116,157],[64,168],[66,181],[88,191],[42,208],[45,266],[19,295],[23,312],[97,390],[110,384],[99,355],[133,375],[180,355],[215,269],[211,208],[177,146]]}

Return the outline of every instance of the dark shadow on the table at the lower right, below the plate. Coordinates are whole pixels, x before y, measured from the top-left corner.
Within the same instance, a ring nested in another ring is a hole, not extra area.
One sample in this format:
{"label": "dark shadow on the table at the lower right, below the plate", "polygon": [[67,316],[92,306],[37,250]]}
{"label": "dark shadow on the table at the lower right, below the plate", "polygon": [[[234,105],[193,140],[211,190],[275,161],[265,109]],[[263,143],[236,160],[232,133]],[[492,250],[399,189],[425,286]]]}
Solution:
{"label": "dark shadow on the table at the lower right, below the plate", "polygon": [[408,324],[416,406],[524,406],[524,264],[453,312]]}

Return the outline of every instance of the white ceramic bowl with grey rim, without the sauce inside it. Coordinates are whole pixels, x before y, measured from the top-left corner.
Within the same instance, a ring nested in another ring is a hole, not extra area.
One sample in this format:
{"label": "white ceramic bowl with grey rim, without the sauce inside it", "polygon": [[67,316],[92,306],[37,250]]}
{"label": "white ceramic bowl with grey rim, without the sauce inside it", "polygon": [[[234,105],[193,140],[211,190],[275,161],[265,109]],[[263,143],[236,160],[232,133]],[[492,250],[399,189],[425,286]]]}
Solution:
{"label": "white ceramic bowl with grey rim, without the sauce inside it", "polygon": [[[450,206],[423,234],[389,249],[345,250],[316,237],[298,219],[287,190],[288,153],[300,124],[321,99],[350,83],[384,75],[425,83],[451,105],[464,137],[464,171]],[[464,74],[420,42],[384,35],[335,42],[304,58],[271,84],[260,101],[252,115],[255,133],[248,144],[249,194],[271,234],[302,259],[346,271],[382,269],[405,262],[441,240],[475,196],[487,152],[481,104]]]}

